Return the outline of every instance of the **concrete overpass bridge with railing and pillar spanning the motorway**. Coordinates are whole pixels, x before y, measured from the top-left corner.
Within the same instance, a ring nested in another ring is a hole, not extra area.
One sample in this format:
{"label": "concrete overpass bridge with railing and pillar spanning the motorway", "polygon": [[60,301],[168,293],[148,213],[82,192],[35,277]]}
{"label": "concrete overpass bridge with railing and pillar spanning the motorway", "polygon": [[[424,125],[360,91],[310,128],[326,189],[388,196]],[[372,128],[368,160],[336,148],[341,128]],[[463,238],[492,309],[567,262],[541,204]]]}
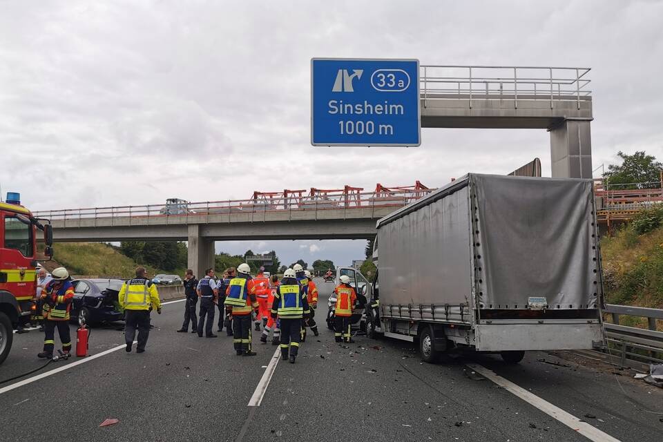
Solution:
{"label": "concrete overpass bridge with railing and pillar spanning the motorway", "polygon": [[51,220],[57,242],[173,240],[189,244],[196,274],[214,263],[214,242],[228,240],[369,239],[376,220],[434,189],[344,189],[254,192],[249,200],[184,202],[35,212]]}

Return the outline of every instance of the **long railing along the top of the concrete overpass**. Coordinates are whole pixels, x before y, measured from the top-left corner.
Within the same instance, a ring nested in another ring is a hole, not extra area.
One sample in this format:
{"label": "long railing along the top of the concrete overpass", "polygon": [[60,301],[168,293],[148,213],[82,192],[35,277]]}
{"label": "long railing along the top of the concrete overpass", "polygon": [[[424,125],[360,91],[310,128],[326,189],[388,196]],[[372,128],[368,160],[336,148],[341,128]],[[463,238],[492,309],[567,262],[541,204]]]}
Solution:
{"label": "long railing along the top of the concrete overpass", "polygon": [[[330,195],[288,195],[249,200],[220,200],[203,202],[176,202],[166,204],[141,204],[135,206],[84,207],[36,211],[35,216],[57,220],[82,220],[102,218],[162,218],[188,217],[191,215],[223,215],[234,213],[269,213],[282,211],[333,211],[348,209],[374,209],[401,207],[427,195],[435,189],[416,189],[389,192],[364,192]],[[258,218],[251,218],[258,219]]]}

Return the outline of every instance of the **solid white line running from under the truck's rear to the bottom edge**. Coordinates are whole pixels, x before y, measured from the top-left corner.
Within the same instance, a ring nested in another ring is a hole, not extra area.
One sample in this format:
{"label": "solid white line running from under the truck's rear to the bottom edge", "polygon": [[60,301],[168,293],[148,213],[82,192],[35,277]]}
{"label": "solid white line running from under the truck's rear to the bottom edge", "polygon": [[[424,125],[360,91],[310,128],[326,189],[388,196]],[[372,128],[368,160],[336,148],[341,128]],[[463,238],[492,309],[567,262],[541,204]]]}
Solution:
{"label": "solid white line running from under the truck's rear to the bottom edge", "polygon": [[540,398],[536,394],[532,394],[531,392],[528,392],[522,387],[519,387],[515,383],[512,383],[511,381],[508,381],[507,379],[503,378],[502,376],[499,376],[495,374],[492,370],[483,367],[483,365],[479,364],[468,364],[468,367],[473,369],[475,372],[486,376],[486,378],[490,379],[490,381],[496,383],[500,387],[502,387],[504,390],[507,390],[508,392],[515,394],[515,396],[518,396],[521,398],[523,401],[529,403],[530,405],[534,405],[537,407],[539,410],[542,412],[548,414],[548,416],[551,416],[557,421],[563,423],[567,427],[569,427],[571,430],[577,431],[579,434],[582,434],[585,436],[587,439],[590,441],[594,442],[619,442],[619,439],[615,439],[613,436],[610,434],[606,434],[599,430],[597,427],[593,427],[592,425],[589,425],[586,422],[580,421],[577,417],[573,416],[573,414],[567,413],[564,410],[562,410],[559,407],[556,407],[555,405],[551,404],[548,401],[545,401],[544,399]]}

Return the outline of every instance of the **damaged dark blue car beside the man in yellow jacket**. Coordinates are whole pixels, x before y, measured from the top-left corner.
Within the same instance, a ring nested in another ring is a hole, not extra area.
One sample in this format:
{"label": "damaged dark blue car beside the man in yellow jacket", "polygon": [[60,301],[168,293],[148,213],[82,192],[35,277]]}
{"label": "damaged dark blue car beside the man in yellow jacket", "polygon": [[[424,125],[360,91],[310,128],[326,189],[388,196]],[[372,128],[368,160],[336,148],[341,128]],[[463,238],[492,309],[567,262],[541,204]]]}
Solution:
{"label": "damaged dark blue car beside the man in yellow jacket", "polygon": [[71,284],[74,286],[70,313],[73,322],[95,325],[124,319],[117,301],[124,280],[78,279]]}

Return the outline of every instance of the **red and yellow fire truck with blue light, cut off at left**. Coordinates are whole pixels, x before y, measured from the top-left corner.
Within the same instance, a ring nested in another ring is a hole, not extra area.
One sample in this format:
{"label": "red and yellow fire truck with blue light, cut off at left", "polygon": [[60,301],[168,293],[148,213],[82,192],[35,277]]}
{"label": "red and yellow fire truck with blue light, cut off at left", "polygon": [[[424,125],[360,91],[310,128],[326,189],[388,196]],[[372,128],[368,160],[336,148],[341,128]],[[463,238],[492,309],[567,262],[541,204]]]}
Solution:
{"label": "red and yellow fire truck with blue light, cut off at left", "polygon": [[[37,259],[37,231],[44,235],[45,259]],[[0,202],[0,364],[12,348],[13,330],[35,310],[37,261],[50,260],[52,242],[50,222],[33,217],[18,193],[7,193]]]}

